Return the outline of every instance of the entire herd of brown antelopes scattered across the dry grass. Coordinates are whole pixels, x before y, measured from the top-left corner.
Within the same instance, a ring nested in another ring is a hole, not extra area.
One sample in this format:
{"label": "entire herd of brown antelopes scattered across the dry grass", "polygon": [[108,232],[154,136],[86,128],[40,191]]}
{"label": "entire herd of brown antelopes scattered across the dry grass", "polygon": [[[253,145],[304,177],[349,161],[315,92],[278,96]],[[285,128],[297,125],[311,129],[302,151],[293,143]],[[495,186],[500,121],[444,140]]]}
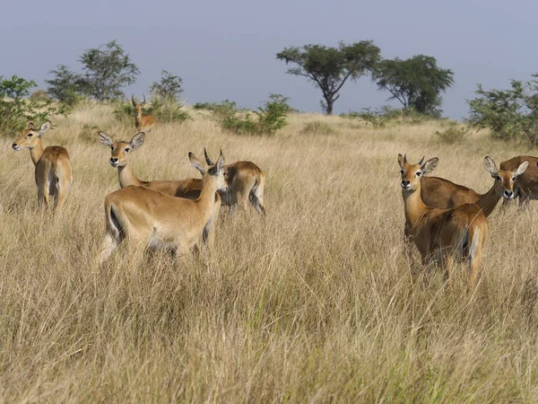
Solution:
{"label": "entire herd of brown antelopes scattered across the dry grass", "polygon": [[[130,259],[140,259],[146,247],[173,250],[185,255],[199,249],[200,242],[212,250],[215,221],[221,206],[247,208],[250,203],[265,215],[265,174],[253,162],[224,164],[222,153],[213,162],[204,149],[205,163],[189,153],[188,158],[202,179],[143,181],[136,177],[130,155],[143,145],[145,133],[157,123],[143,115],[142,103],[134,101],[134,126],[138,133],[129,142],[117,141],[99,132],[100,143],[110,148],[110,165],[117,168],[119,187],[105,198],[106,233],[96,254],[102,263],[126,240]],[[41,138],[50,128],[46,122],[39,129],[29,123],[22,136],[13,143],[14,150],[29,149],[35,165],[39,206],[48,206],[50,198],[61,209],[73,182],[69,154],[64,147],[43,148]],[[473,189],[449,180],[429,177],[438,158],[416,164],[398,155],[402,174],[405,211],[405,241],[412,241],[421,253],[422,264],[432,262],[445,270],[451,285],[455,259],[468,259],[469,288],[477,285],[482,249],[488,233],[487,217],[499,200],[507,203],[519,198],[520,205],[538,198],[538,158],[516,156],[500,167],[490,157],[484,158],[486,170],[494,182],[481,195]]]}

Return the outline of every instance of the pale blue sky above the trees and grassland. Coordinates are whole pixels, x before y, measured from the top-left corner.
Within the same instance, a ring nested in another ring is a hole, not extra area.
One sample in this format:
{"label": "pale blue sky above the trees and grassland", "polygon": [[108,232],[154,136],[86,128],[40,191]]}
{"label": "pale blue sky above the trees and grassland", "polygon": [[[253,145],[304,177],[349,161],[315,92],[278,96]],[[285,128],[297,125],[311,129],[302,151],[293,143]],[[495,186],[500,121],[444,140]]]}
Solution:
{"label": "pale blue sky above the trees and grassland", "polygon": [[[284,47],[335,46],[373,40],[385,58],[423,54],[451,68],[447,116],[468,113],[476,83],[504,88],[508,79],[538,72],[538,2],[516,0],[386,1],[5,1],[1,6],[0,75],[21,75],[41,88],[48,71],[79,70],[87,48],[117,40],[141,75],[126,89],[141,96],[161,69],[184,80],[187,102],[230,99],[256,108],[271,92],[299,110],[319,111],[321,92],[285,75],[275,59]],[[335,113],[386,103],[368,77],[343,87]]]}

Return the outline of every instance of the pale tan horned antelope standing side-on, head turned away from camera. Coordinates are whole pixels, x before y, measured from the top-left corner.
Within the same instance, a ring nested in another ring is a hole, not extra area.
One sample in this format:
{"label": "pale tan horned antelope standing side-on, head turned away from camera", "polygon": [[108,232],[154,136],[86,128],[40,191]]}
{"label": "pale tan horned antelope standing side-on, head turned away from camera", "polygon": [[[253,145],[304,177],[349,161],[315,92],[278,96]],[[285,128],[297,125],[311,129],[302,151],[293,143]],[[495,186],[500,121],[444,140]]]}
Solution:
{"label": "pale tan horned antelope standing side-on, head turned away from camera", "polygon": [[195,200],[174,198],[145,187],[126,187],[107,195],[106,233],[96,263],[107,259],[124,239],[134,263],[141,258],[144,244],[150,248],[172,248],[178,255],[195,246],[213,215],[215,193],[226,189],[226,181],[222,154],[208,168],[194,154],[189,153],[188,157],[204,176],[202,192]]}

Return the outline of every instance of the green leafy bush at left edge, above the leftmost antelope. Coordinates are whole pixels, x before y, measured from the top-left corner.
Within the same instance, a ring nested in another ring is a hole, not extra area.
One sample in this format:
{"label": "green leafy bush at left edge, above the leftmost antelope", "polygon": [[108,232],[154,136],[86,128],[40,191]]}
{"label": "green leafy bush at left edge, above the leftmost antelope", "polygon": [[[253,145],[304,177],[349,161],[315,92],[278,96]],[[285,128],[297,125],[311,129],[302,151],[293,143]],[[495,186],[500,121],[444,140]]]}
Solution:
{"label": "green leafy bush at left edge, above the leftmost antelope", "polygon": [[45,122],[50,116],[63,113],[52,106],[50,100],[30,97],[30,89],[36,87],[33,80],[13,75],[11,79],[0,76],[0,133],[12,136],[26,127],[28,121]]}

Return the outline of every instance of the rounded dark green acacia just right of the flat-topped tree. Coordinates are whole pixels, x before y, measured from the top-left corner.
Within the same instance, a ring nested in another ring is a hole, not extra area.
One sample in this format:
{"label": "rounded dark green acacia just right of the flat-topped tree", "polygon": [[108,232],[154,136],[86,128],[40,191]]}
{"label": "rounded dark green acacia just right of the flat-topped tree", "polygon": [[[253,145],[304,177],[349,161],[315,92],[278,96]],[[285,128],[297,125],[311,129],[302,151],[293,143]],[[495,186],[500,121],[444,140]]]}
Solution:
{"label": "rounded dark green acacia just right of the flat-topped tree", "polygon": [[454,84],[454,73],[437,66],[435,57],[417,55],[406,60],[383,60],[374,74],[377,88],[392,94],[404,109],[412,108],[433,116],[440,115],[441,92]]}

